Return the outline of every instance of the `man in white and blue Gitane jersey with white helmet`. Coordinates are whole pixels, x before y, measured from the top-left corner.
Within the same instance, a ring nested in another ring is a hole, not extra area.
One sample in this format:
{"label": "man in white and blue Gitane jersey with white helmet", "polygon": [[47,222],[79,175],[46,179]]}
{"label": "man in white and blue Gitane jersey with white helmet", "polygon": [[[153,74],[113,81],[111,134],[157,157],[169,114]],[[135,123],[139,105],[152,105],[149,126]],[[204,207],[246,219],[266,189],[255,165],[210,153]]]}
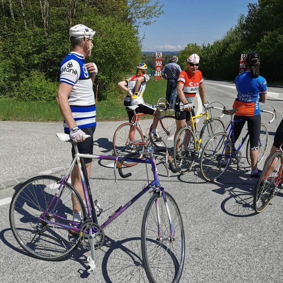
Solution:
{"label": "man in white and blue Gitane jersey with white helmet", "polygon": [[[78,24],[69,31],[71,53],[63,60],[59,70],[59,89],[56,97],[60,112],[64,118],[64,131],[78,143],[80,153],[93,153],[93,133],[96,127],[96,107],[93,82],[97,75],[94,63],[85,63],[93,48],[95,31]],[[91,138],[86,139],[85,135]],[[74,156],[74,148],[72,147]],[[90,177],[92,159],[84,159]],[[71,183],[84,199],[83,188],[77,166],[71,174]],[[73,220],[80,222],[80,206],[73,203]]]}

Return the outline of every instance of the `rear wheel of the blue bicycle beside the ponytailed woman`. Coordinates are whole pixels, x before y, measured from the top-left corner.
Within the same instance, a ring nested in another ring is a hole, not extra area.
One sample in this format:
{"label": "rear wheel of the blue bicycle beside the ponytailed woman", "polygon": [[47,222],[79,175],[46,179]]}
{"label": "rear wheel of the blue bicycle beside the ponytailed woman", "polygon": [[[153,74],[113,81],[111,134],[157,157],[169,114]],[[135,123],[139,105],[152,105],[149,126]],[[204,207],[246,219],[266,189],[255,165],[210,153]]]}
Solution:
{"label": "rear wheel of the blue bicycle beside the ponytailed woman", "polygon": [[[227,153],[225,145],[229,148]],[[227,133],[215,134],[207,141],[200,156],[200,171],[206,180],[216,181],[225,173],[232,158],[232,148]]]}

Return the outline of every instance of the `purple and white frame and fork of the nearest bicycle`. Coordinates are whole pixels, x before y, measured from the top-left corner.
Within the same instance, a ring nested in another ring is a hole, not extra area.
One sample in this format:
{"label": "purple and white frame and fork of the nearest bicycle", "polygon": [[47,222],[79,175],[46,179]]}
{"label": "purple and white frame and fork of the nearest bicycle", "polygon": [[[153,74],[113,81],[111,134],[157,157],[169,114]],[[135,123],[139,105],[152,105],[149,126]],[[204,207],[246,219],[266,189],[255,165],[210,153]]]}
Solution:
{"label": "purple and white frame and fork of the nearest bicycle", "polygon": [[[59,197],[54,205],[53,208],[53,212],[56,210],[56,205],[59,201],[60,198],[60,190],[62,188],[62,186],[64,185],[65,181],[68,181],[69,177],[71,176],[71,171],[73,169],[73,167],[75,166],[75,164],[77,163],[78,165],[78,169],[80,172],[80,177],[81,177],[81,182],[82,182],[82,186],[83,186],[83,192],[84,192],[84,196],[85,196],[85,201],[86,201],[86,205],[87,205],[87,211],[88,211],[88,216],[90,219],[92,219],[92,221],[97,224],[98,220],[97,220],[97,214],[96,214],[96,210],[94,208],[94,203],[93,203],[93,199],[92,199],[92,194],[90,191],[90,186],[89,186],[89,182],[88,182],[88,174],[87,174],[87,170],[86,170],[86,165],[84,163],[84,158],[88,158],[88,159],[104,159],[104,160],[113,160],[116,162],[118,162],[118,160],[121,160],[122,158],[117,158],[115,156],[101,156],[101,155],[88,155],[88,154],[80,154],[78,152],[77,146],[75,145],[75,157],[73,158],[70,168],[68,169],[68,172],[66,173],[66,175],[64,177],[62,177],[61,181],[60,181],[60,185],[57,189],[58,193],[56,193],[53,196],[53,199],[47,209],[46,212],[44,212],[40,217],[39,220],[44,221],[46,223],[49,224],[53,224],[56,226],[60,226],[64,229],[67,230],[74,230],[76,232],[80,231],[79,225],[76,222],[67,220],[63,217],[60,217],[58,215],[56,215],[56,213],[54,214],[56,217],[60,218],[60,219],[64,219],[66,220],[68,223],[72,224],[72,226],[70,225],[64,225],[64,224],[60,224],[57,222],[53,222],[50,221],[48,219],[46,219],[46,215],[48,214],[54,199],[56,198],[57,194],[59,194]],[[156,168],[156,163],[155,163],[155,158],[154,156],[152,156],[150,159],[128,159],[127,161],[131,161],[131,162],[139,162],[139,163],[147,163],[147,164],[151,164],[152,166],[152,172],[154,175],[154,180],[151,181],[151,183],[148,186],[145,186],[141,192],[139,192],[137,195],[135,195],[129,202],[127,202],[123,207],[121,206],[118,210],[116,210],[100,227],[102,229],[106,228],[106,226],[108,226],[114,219],[116,219],[120,214],[122,214],[127,208],[129,208],[134,202],[136,202],[142,195],[144,195],[148,190],[153,189],[153,191],[157,191],[160,193],[160,195],[162,195],[165,204],[167,204],[166,201],[166,196],[165,196],[165,191],[164,188],[160,186],[159,183],[159,176],[157,173],[157,168]],[[115,170],[115,168],[114,168]],[[157,207],[158,209],[158,207]],[[168,212],[168,215],[170,215],[168,206],[166,205],[166,210]],[[171,237],[173,239],[173,235],[174,235],[174,231],[173,231],[173,224],[172,224],[172,219],[171,217],[169,217],[169,223],[170,223],[170,232],[171,232]],[[158,223],[159,224],[159,223]],[[157,235],[158,237],[158,235]]]}

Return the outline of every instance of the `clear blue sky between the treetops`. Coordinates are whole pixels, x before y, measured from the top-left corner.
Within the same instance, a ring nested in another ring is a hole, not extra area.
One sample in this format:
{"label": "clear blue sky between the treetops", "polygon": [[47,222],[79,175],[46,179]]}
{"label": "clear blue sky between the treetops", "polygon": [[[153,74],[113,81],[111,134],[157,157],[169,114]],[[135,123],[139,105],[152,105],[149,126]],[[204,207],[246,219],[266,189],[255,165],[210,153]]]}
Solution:
{"label": "clear blue sky between the treetops", "polygon": [[151,26],[140,27],[142,51],[179,51],[189,43],[221,39],[238,17],[257,0],[160,0],[164,14]]}

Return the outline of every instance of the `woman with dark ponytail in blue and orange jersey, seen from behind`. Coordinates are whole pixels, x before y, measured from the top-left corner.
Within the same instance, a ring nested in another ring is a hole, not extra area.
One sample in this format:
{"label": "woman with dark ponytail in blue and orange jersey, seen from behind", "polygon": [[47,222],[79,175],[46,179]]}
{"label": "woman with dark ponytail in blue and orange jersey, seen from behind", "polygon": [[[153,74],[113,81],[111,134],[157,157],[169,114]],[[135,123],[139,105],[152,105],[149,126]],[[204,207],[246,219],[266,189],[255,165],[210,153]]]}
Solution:
{"label": "woman with dark ponytail in blue and orange jersey, seen from behind", "polygon": [[234,124],[234,141],[236,141],[246,123],[250,140],[251,177],[259,177],[261,170],[257,168],[258,141],[260,136],[261,115],[259,103],[265,103],[267,85],[264,77],[259,75],[260,56],[257,53],[248,53],[245,64],[247,71],[239,74],[235,79],[237,98],[233,109],[238,109],[234,120],[243,122]]}

